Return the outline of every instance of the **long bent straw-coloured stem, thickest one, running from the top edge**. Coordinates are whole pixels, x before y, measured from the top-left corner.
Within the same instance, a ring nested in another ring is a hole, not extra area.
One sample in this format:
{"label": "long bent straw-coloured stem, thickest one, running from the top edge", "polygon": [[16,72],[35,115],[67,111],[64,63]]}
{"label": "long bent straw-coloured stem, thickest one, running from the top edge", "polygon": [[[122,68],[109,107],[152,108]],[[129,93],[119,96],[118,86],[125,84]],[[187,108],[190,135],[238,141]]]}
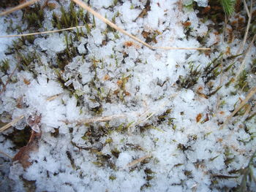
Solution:
{"label": "long bent straw-coloured stem, thickest one, running from the top edge", "polygon": [[99,18],[99,20],[102,20],[104,23],[106,23],[108,26],[115,28],[117,31],[120,31],[122,34],[127,35],[128,37],[134,39],[137,42],[140,42],[142,45],[145,45],[146,47],[155,50],[155,49],[163,49],[163,50],[211,50],[210,48],[187,48],[187,47],[152,47],[151,45],[148,45],[146,42],[143,42],[141,39],[138,39],[138,37],[133,36],[132,34],[129,34],[127,31],[125,31],[123,28],[120,28],[116,26],[116,24],[112,23],[110,20],[106,19],[102,15],[100,15],[98,12],[94,11],[94,9],[91,9],[87,4],[85,4],[83,1],[80,0],[72,0],[76,4],[78,4],[83,9],[86,9],[88,12],[91,12],[92,15]]}

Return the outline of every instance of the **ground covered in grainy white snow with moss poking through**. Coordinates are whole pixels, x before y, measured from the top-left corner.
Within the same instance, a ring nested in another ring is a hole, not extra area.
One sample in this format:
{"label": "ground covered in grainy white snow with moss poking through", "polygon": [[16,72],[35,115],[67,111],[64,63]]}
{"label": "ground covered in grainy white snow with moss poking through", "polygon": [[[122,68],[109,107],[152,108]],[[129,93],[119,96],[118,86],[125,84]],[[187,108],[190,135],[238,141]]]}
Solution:
{"label": "ground covered in grainy white snow with moss poking through", "polygon": [[[252,45],[246,60],[233,57],[241,39],[227,42],[216,23],[197,18],[192,3],[151,1],[141,17],[147,1],[94,0],[90,6],[154,47],[211,51],[151,50],[78,6],[70,11],[69,1],[48,1],[38,24],[29,24],[24,10],[1,17],[0,35],[57,29],[53,12],[59,20],[63,12],[83,15],[77,23],[63,19],[61,28],[88,23],[34,39],[0,39],[1,122],[24,115],[1,133],[0,151],[18,153],[8,137],[15,129],[41,132],[26,148],[30,158],[16,155],[12,162],[1,155],[1,188],[224,191],[240,185],[238,169],[255,151],[255,117],[248,118],[255,96],[221,127],[255,86],[256,49]],[[232,77],[242,62],[248,83],[240,78],[238,85]]]}

